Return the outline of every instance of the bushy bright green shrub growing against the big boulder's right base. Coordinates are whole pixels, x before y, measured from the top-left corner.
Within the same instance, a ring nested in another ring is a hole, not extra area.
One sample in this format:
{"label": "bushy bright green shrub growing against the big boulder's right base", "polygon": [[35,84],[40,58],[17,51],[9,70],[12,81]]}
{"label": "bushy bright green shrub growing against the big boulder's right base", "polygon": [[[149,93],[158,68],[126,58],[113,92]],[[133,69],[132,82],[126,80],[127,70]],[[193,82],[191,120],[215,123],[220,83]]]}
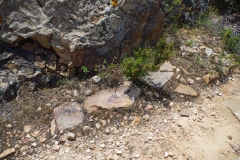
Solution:
{"label": "bushy bright green shrub growing against the big boulder's right base", "polygon": [[136,80],[149,71],[159,68],[160,63],[169,59],[174,53],[173,43],[166,43],[162,38],[153,48],[139,48],[133,55],[123,59],[121,68],[125,76]]}

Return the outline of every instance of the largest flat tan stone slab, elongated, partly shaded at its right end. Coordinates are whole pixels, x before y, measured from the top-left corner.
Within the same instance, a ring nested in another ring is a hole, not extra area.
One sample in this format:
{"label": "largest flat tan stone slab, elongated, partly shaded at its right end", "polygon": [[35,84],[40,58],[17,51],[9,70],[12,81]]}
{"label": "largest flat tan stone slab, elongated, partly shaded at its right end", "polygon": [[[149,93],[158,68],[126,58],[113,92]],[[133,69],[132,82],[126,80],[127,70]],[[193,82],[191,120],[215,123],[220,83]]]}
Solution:
{"label": "largest flat tan stone slab, elongated, partly shaded at its right end", "polygon": [[94,113],[115,108],[129,108],[139,95],[139,89],[130,82],[125,82],[122,87],[117,89],[102,90],[87,97],[84,102],[84,109],[88,113]]}

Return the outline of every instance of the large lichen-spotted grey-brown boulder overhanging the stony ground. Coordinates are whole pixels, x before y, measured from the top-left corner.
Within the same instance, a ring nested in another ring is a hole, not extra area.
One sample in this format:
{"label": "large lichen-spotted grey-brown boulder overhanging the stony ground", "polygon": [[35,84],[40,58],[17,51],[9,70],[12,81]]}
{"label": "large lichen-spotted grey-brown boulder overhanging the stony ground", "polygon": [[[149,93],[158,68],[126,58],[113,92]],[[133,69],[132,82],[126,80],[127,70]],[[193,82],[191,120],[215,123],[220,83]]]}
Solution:
{"label": "large lichen-spotted grey-brown boulder overhanging the stony ground", "polygon": [[[31,38],[54,49],[73,75],[82,65],[91,69],[103,59],[156,42],[163,33],[163,8],[172,1],[1,0],[0,38],[12,46]],[[204,9],[209,2],[183,3]]]}

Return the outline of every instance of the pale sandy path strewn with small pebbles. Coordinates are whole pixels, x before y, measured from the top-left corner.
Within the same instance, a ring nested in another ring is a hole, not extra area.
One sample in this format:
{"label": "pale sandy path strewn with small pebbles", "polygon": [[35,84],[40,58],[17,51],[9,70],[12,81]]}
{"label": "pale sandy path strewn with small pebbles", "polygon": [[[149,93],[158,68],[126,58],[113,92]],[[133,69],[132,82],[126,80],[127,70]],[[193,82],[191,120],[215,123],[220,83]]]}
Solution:
{"label": "pale sandy path strewn with small pebbles", "polygon": [[[103,129],[95,137],[67,140],[59,145],[59,151],[53,151],[57,141],[53,140],[28,159],[237,159],[239,151],[234,152],[233,147],[240,146],[240,122],[226,105],[230,98],[230,105],[240,107],[240,80],[230,80],[216,89],[203,91],[188,107],[178,102],[171,110],[161,104],[153,106],[149,120],[139,117],[141,123],[137,126],[109,126],[110,134]],[[214,93],[214,98],[207,98]],[[183,117],[178,110],[186,108],[189,116]]]}

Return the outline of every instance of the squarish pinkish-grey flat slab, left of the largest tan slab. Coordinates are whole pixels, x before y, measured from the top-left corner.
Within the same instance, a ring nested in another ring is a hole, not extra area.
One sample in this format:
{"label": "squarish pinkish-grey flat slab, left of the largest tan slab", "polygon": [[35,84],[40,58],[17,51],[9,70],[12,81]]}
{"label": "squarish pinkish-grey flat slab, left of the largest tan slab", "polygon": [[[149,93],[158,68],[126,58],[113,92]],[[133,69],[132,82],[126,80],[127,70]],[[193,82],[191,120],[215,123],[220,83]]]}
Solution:
{"label": "squarish pinkish-grey flat slab, left of the largest tan slab", "polygon": [[84,120],[83,109],[78,102],[66,102],[54,108],[53,112],[59,130],[77,126]]}

